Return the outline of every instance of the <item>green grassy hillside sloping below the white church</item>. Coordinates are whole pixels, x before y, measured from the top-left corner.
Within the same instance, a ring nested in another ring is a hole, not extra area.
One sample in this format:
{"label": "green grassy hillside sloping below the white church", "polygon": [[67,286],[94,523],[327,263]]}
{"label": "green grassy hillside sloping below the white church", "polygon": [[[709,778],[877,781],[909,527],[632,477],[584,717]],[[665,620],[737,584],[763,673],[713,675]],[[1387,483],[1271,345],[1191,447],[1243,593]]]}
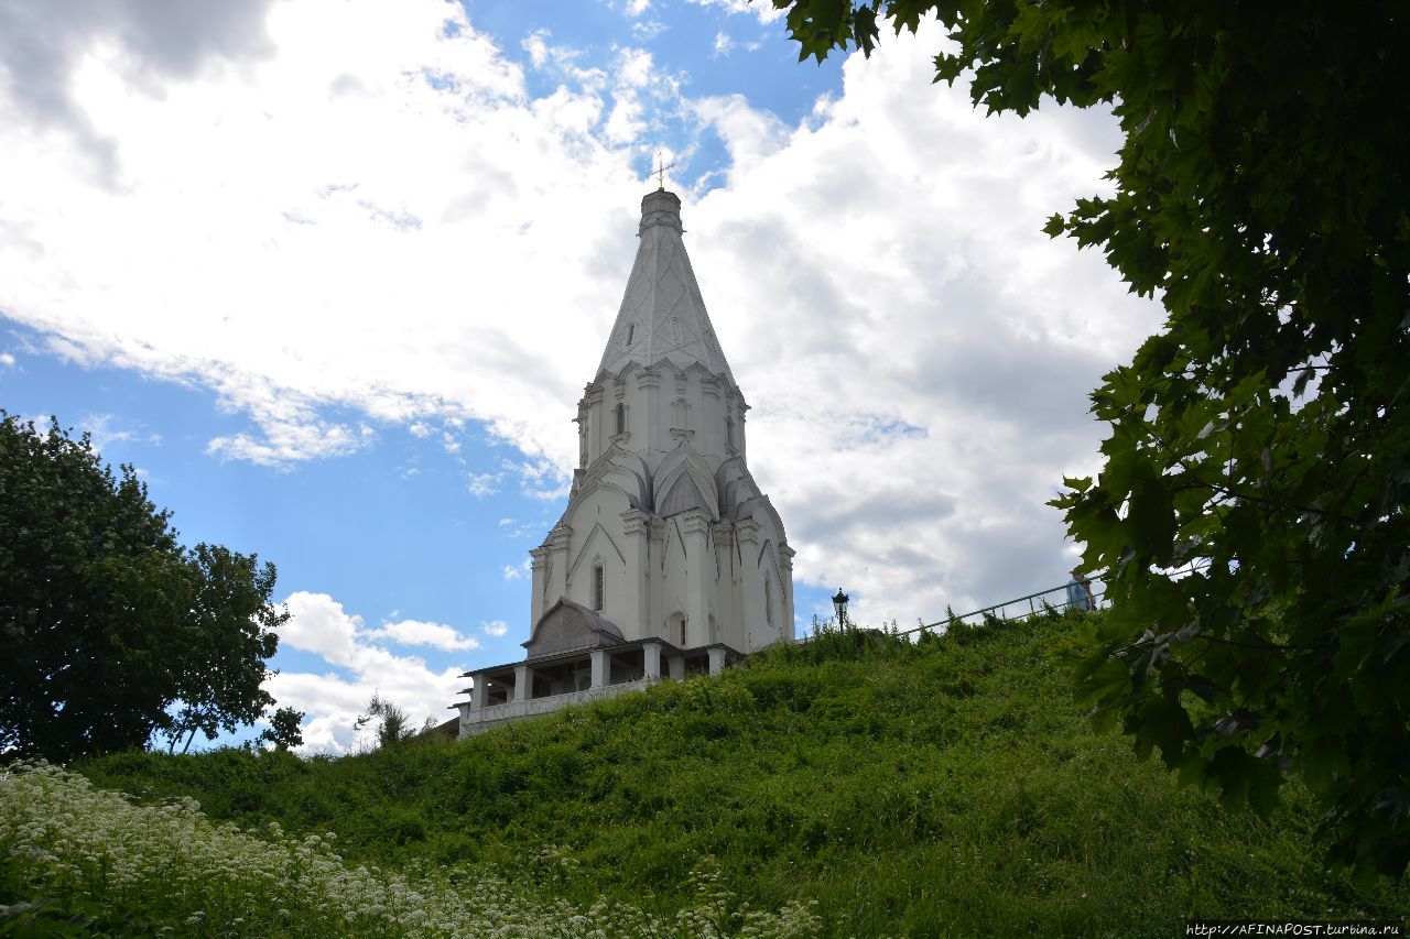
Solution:
{"label": "green grassy hillside sloping below the white church", "polygon": [[[1175,935],[1189,916],[1393,918],[1404,883],[1321,873],[1293,788],[1263,821],[1093,736],[1072,619],[908,644],[829,634],[464,743],[344,759],[128,754],[78,768],[214,819],[334,832],[350,860],[491,866],[670,914],[713,856],[754,908],[825,935]],[[546,850],[561,849],[561,850]]]}

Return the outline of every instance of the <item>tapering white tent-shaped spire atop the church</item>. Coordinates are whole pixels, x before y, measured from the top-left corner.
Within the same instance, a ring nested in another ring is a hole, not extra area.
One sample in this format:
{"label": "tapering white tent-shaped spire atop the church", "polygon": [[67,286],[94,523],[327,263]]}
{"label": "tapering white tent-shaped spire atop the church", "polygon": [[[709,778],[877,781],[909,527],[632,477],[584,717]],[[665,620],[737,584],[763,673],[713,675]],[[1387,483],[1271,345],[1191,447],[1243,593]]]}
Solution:
{"label": "tapering white tent-shaped spire atop the church", "polygon": [[695,271],[681,241],[681,200],[658,189],[642,199],[642,227],[636,262],[626,283],[608,347],[603,371],[619,372],[627,362],[651,367],[668,360],[680,368],[699,362],[712,375],[735,376],[715,338]]}

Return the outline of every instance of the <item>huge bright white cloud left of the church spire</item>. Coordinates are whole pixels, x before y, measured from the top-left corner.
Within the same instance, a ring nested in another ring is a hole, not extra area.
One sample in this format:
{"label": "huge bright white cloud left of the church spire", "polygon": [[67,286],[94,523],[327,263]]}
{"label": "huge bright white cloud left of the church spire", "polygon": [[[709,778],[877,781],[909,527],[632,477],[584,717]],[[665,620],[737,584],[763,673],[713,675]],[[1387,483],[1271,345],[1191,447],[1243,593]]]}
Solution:
{"label": "huge bright white cloud left of the church spire", "polygon": [[[69,110],[110,141],[113,185],[78,142],[0,123],[0,180],[25,180],[0,182],[0,266],[24,271],[0,309],[75,361],[213,388],[252,424],[210,441],[220,458],[367,446],[330,405],[486,420],[547,453],[529,443],[536,412],[591,368],[599,324],[580,312],[613,305],[601,259],[632,244],[640,183],[589,134],[603,102],[530,100],[520,68],[437,0],[290,1],[262,28],[259,58],[157,85],[133,80],[121,23],[73,38]],[[0,113],[17,89],[0,87]],[[546,367],[546,336],[580,367]]]}

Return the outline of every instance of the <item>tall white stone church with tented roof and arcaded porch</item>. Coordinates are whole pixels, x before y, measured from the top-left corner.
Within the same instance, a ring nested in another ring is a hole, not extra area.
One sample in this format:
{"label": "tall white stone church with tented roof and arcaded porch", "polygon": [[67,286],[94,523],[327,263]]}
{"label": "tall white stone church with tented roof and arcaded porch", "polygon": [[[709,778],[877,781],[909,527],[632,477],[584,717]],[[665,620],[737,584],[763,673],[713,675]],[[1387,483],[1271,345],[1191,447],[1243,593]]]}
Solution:
{"label": "tall white stone church with tented roof and arcaded porch", "polygon": [[716,674],[794,639],[792,548],[746,465],[749,405],[681,240],[681,200],[642,200],[642,240],[578,402],[568,508],[533,557],[522,661],[465,673],[465,737],[506,720]]}

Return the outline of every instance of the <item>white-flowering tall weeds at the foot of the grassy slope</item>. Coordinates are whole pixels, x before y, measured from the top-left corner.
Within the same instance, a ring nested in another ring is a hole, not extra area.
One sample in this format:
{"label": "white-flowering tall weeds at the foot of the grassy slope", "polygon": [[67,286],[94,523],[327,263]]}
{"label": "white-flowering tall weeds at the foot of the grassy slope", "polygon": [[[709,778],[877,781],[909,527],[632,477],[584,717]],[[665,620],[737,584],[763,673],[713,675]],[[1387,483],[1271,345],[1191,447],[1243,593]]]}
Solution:
{"label": "white-flowering tall weeds at the foot of the grassy slope", "polygon": [[0,771],[0,932],[808,936],[819,925],[802,904],[736,902],[709,861],[691,873],[695,902],[660,918],[608,898],[578,908],[465,867],[352,866],[336,837],[295,839],[274,822],[255,836],[212,823],[189,798],[141,806],[62,768],[16,764]]}

